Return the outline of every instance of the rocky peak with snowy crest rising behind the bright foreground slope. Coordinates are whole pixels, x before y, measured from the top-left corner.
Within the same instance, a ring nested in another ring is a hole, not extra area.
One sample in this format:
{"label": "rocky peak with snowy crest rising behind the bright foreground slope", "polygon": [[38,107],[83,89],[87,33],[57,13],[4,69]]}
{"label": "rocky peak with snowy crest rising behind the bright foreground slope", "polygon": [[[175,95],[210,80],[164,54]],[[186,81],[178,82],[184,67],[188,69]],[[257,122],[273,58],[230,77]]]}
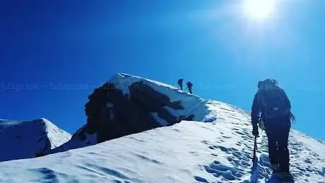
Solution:
{"label": "rocky peak with snowy crest rising behind the bright foreground slope", "polygon": [[125,73],[96,88],[88,99],[87,123],[73,134],[69,143],[49,153],[170,126],[185,119],[202,121],[207,109],[205,100],[196,95]]}

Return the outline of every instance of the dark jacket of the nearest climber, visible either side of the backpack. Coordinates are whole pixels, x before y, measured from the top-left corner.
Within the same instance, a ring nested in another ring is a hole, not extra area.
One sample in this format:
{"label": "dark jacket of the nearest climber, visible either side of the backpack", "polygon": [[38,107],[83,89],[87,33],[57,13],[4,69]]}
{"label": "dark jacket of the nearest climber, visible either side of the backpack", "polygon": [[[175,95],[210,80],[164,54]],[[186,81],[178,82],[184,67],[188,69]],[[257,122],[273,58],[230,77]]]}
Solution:
{"label": "dark jacket of the nearest climber, visible either side of the backpack", "polygon": [[[285,94],[285,91],[281,88],[276,88],[276,90],[280,91],[280,93],[283,94],[283,100],[284,100],[284,107],[288,108],[288,112],[290,113],[290,109],[291,109],[291,104],[290,104],[290,100],[288,99],[288,96]],[[268,93],[270,93],[271,90],[259,90],[255,96],[254,96],[254,101],[253,101],[253,105],[252,105],[252,124],[253,126],[257,126],[257,124],[259,123],[259,118],[261,117],[261,119],[263,119],[264,121],[267,120],[267,117],[265,115],[266,113],[266,109],[265,107],[261,104],[260,101],[260,95],[264,95],[266,98],[268,97]]]}

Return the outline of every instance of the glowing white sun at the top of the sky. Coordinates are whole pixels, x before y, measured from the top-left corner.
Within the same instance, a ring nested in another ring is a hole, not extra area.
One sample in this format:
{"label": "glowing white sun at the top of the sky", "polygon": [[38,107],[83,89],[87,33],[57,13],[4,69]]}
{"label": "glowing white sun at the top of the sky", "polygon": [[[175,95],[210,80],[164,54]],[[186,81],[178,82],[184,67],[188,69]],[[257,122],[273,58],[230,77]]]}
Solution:
{"label": "glowing white sun at the top of the sky", "polygon": [[244,13],[249,18],[264,20],[270,18],[275,5],[275,0],[246,0],[244,1]]}

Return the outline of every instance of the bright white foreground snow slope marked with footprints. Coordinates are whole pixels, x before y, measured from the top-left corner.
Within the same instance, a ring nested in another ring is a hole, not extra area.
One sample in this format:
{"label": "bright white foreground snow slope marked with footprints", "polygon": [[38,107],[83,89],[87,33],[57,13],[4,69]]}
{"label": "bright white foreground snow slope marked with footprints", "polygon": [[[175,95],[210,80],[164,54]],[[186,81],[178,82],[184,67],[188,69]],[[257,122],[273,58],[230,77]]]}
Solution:
{"label": "bright white foreground snow slope marked with footprints", "polygon": [[[276,182],[268,167],[266,136],[253,136],[246,112],[206,101],[203,121],[183,121],[139,134],[41,158],[0,163],[0,182]],[[290,133],[295,182],[325,182],[325,146]],[[17,166],[19,165],[19,166]]]}

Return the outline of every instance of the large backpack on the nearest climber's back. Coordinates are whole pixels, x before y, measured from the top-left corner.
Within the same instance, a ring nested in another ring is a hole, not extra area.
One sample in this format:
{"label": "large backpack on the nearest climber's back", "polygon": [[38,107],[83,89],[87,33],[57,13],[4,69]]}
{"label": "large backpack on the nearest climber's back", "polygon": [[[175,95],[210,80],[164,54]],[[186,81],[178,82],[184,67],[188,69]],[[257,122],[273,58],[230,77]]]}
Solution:
{"label": "large backpack on the nearest climber's back", "polygon": [[261,104],[262,116],[266,118],[280,117],[290,113],[287,95],[273,79],[259,81],[257,99]]}

